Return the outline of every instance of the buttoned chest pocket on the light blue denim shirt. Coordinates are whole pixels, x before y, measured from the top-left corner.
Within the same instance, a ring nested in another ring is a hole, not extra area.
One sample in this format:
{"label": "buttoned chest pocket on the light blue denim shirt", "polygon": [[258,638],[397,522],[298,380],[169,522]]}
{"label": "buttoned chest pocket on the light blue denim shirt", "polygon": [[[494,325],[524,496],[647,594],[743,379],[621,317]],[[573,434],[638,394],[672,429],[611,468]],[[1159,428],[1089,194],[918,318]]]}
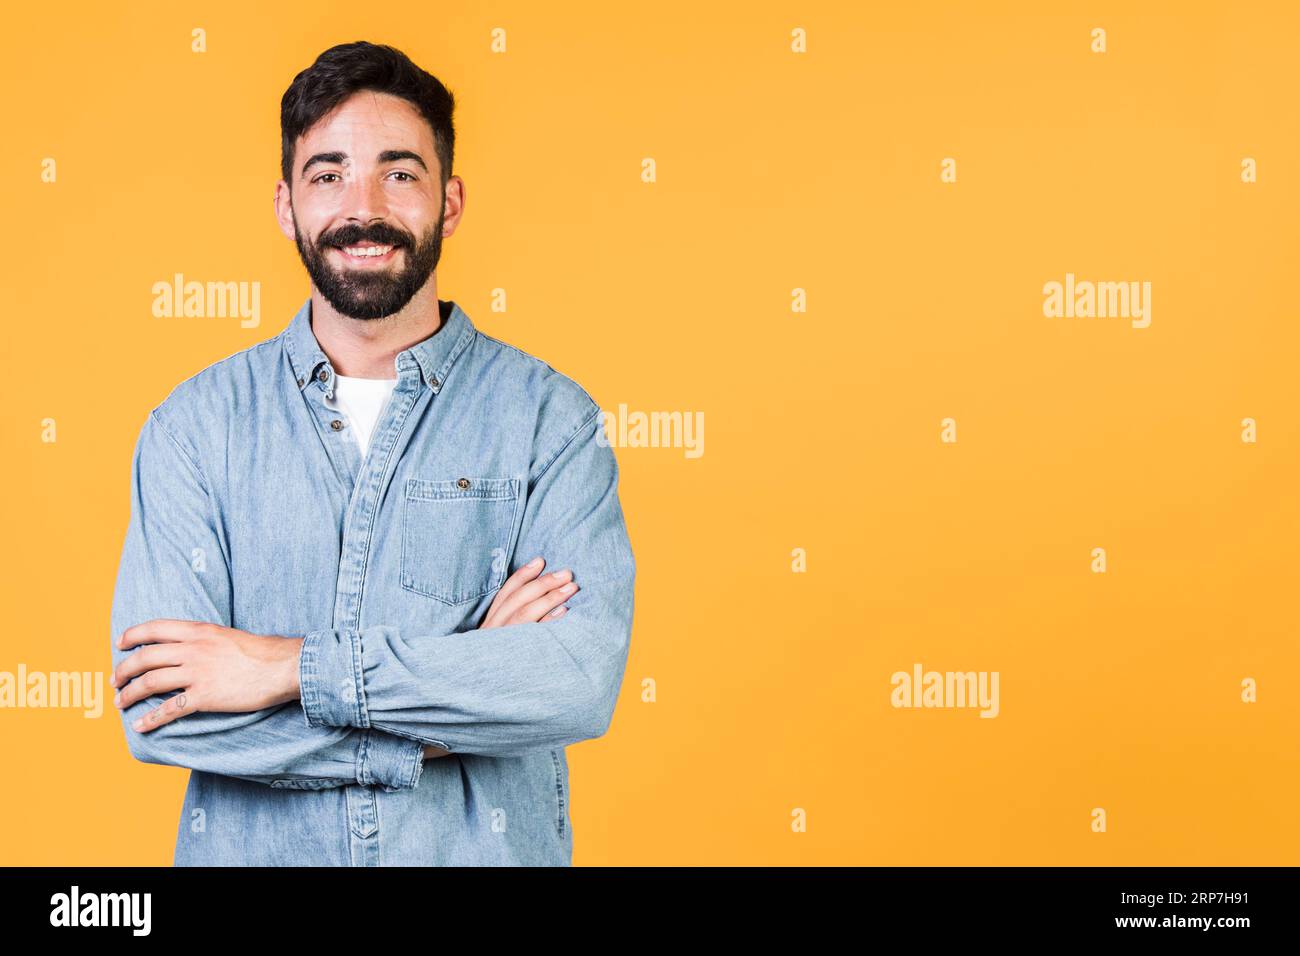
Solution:
{"label": "buttoned chest pocket on the light blue denim shirt", "polygon": [[402,587],[447,605],[506,581],[519,479],[407,479]]}

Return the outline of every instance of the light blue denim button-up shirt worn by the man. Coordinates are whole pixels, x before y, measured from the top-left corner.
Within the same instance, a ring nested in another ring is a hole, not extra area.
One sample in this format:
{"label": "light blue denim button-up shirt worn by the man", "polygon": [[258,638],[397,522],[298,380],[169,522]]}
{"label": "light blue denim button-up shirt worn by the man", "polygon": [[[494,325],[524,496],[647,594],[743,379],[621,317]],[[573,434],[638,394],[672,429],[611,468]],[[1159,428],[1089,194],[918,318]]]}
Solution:
{"label": "light blue denim button-up shirt worn by the man", "polygon": [[[144,421],[113,667],[153,618],[306,639],[294,704],[121,711],[134,757],[191,770],[177,865],[572,862],[564,748],[608,730],[632,632],[618,464],[580,385],[439,308],[364,459],[311,299]],[[568,613],[476,630],[537,555],[573,571]]]}

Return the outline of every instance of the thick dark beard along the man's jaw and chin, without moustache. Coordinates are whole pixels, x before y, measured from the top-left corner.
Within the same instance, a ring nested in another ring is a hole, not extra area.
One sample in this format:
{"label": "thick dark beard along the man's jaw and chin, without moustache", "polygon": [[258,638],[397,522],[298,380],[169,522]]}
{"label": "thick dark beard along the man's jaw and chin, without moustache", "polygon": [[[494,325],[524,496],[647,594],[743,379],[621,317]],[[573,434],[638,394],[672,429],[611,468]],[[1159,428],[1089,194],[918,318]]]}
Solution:
{"label": "thick dark beard along the man's jaw and chin, without moustache", "polygon": [[298,258],[303,260],[312,285],[320,290],[325,300],[339,315],[348,319],[382,319],[406,308],[415,294],[429,281],[442,258],[442,220],[446,211],[438,213],[438,224],[425,233],[419,246],[402,245],[404,265],[398,273],[387,269],[335,269],[326,258],[330,246],[307,246],[294,220],[294,245]]}

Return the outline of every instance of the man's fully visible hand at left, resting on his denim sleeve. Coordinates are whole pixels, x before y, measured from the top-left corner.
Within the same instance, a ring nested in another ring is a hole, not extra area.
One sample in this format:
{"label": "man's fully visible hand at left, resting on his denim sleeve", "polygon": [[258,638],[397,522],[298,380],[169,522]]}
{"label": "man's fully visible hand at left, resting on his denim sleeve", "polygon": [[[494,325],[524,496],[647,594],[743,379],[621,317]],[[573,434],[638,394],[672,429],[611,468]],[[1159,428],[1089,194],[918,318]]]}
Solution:
{"label": "man's fully visible hand at left, resting on his denim sleeve", "polygon": [[151,731],[199,710],[261,710],[298,700],[300,692],[302,637],[159,618],[126,628],[117,645],[125,649],[140,644],[150,646],[130,654],[113,671],[113,687],[121,688],[117,706],[127,708],[168,691],[183,693],[136,721],[136,731]]}

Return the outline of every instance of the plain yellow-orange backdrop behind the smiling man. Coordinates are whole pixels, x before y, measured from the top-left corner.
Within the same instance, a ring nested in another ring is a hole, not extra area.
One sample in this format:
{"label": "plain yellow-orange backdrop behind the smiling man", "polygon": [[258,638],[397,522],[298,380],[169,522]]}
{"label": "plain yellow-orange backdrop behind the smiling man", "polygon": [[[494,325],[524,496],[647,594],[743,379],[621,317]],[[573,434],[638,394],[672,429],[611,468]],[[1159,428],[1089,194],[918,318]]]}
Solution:
{"label": "plain yellow-orange backdrop behind the smiling man", "polygon": [[[603,408],[705,414],[698,459],[618,450],[636,627],[576,864],[1300,864],[1292,3],[14,8],[0,670],[107,678],[133,441],[307,298],[280,96],[355,39],[459,100],[439,297]],[[260,282],[261,325],[153,319],[176,272]],[[1149,281],[1150,326],[1044,317],[1066,272]],[[893,709],[915,662],[1001,714]],[[0,728],[0,862],[170,862],[186,773],[110,693]]]}

